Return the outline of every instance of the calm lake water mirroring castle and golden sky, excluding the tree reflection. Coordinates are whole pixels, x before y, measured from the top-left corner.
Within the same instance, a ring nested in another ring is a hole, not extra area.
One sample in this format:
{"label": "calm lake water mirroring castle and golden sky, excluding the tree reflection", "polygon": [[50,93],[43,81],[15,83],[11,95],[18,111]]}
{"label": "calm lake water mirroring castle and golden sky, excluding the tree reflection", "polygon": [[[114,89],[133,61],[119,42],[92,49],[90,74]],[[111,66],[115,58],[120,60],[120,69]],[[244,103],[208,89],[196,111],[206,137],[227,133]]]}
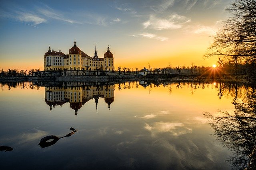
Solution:
{"label": "calm lake water mirroring castle and golden sky, excluding the tree reflection", "polygon": [[210,135],[203,113],[231,113],[252,90],[215,82],[1,88],[0,146],[13,149],[1,149],[1,170],[231,169],[232,152]]}

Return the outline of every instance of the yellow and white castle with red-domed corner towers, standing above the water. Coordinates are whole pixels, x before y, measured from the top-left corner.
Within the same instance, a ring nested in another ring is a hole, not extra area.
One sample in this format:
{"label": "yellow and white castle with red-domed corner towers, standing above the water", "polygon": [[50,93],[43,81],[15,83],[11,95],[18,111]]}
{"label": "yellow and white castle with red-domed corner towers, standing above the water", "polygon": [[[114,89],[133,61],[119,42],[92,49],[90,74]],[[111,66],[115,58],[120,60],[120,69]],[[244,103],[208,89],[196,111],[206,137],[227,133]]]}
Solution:
{"label": "yellow and white castle with red-domed corner towers, standing above the water", "polygon": [[54,51],[51,47],[44,54],[44,70],[107,70],[114,69],[113,53],[108,50],[102,58],[98,57],[96,45],[94,57],[90,57],[76,46],[69,49],[69,54],[65,55],[61,51]]}

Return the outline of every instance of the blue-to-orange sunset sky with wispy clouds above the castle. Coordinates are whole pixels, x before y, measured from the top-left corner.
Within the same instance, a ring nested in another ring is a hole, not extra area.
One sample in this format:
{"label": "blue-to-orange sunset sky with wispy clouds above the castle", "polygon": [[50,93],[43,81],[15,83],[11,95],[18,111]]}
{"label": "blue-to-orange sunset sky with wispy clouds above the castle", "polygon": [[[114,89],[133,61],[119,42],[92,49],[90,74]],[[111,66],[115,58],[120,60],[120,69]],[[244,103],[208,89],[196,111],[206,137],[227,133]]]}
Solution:
{"label": "blue-to-orange sunset sky with wispy clouds above the castle", "polygon": [[76,45],[114,66],[212,66],[204,59],[232,0],[0,0],[0,69],[44,69],[44,54]]}

